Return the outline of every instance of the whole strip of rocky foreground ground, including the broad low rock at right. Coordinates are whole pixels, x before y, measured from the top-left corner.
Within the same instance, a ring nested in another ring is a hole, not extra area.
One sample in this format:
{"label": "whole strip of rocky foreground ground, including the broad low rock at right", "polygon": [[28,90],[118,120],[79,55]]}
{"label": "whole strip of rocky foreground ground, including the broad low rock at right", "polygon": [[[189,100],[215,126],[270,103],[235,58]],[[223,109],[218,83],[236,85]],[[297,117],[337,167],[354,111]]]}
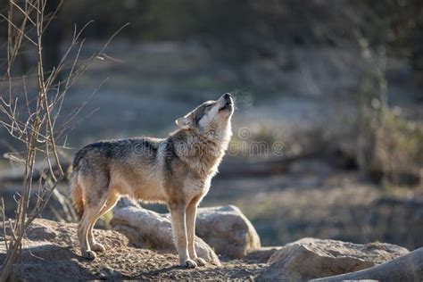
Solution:
{"label": "whole strip of rocky foreground ground, including the broad low rock at right", "polygon": [[[95,236],[106,246],[106,252],[100,253],[94,261],[87,261],[79,256],[76,231],[76,224],[35,220],[28,229],[25,248],[21,259],[15,264],[12,279],[306,281],[366,270],[379,264],[384,266],[384,262],[392,262],[395,258],[404,258],[403,261],[413,267],[406,274],[408,278],[423,278],[423,260],[410,260],[409,251],[396,245],[354,245],[305,238],[283,247],[257,248],[239,260],[220,256],[220,266],[209,263],[204,267],[187,270],[178,266],[178,257],[174,252],[130,246],[127,237],[112,230],[95,229]],[[4,253],[2,246],[0,261],[4,259]]]}

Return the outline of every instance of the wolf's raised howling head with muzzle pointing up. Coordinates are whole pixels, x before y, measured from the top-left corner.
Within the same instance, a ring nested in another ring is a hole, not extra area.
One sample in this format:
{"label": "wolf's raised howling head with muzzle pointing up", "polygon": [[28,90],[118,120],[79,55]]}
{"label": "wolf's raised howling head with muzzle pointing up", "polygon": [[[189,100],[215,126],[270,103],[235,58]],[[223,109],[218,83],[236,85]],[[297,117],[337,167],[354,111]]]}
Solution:
{"label": "wolf's raised howling head with muzzle pointing up", "polygon": [[230,131],[230,119],[234,112],[234,102],[230,94],[221,95],[216,101],[200,104],[183,118],[175,120],[181,129],[193,129],[199,133],[222,133]]}

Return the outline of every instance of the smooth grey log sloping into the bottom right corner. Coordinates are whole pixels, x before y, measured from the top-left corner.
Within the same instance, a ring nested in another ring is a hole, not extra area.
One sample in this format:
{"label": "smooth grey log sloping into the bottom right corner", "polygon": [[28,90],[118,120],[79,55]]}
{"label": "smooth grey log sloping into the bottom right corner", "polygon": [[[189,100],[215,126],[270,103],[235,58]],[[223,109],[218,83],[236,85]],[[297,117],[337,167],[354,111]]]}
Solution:
{"label": "smooth grey log sloping into the bottom right corner", "polygon": [[423,247],[402,255],[392,261],[379,264],[366,270],[336,275],[311,281],[344,281],[373,279],[379,281],[422,281],[423,280]]}

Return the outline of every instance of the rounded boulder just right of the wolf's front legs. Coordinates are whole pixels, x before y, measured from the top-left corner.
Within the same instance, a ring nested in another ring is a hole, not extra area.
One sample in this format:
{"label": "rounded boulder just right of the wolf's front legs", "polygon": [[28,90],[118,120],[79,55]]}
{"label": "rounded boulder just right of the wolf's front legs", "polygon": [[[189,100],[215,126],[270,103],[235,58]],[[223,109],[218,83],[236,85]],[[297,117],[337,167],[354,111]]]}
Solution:
{"label": "rounded boulder just right of the wolf's front legs", "polygon": [[253,224],[234,205],[199,208],[195,226],[197,236],[228,258],[242,258],[261,247]]}

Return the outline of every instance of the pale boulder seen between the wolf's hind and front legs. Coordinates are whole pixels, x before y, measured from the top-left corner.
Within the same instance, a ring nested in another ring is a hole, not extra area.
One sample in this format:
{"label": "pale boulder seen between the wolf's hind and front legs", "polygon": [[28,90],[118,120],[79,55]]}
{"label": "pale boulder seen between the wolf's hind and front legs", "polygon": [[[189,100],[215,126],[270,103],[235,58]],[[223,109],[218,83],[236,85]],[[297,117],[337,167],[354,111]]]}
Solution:
{"label": "pale boulder seen between the wolf's hind and front legs", "polygon": [[[131,245],[177,253],[167,214],[145,210],[128,198],[122,198],[113,210],[110,224],[113,230],[127,236]],[[216,253],[199,237],[195,237],[195,251],[205,261],[220,265]]]}

